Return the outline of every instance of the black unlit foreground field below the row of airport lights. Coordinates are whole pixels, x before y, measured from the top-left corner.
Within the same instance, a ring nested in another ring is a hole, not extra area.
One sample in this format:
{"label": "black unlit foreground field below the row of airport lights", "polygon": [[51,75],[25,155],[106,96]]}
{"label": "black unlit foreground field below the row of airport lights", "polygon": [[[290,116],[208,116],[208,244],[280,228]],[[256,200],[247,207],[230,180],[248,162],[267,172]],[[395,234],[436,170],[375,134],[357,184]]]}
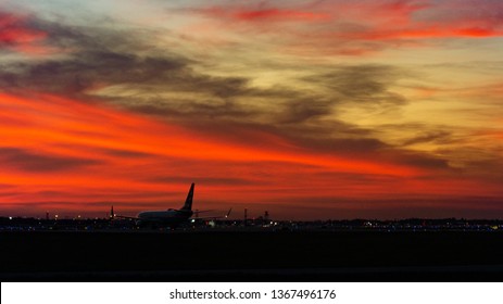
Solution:
{"label": "black unlit foreground field below the row of airport lights", "polygon": [[5,280],[499,281],[501,232],[0,232]]}

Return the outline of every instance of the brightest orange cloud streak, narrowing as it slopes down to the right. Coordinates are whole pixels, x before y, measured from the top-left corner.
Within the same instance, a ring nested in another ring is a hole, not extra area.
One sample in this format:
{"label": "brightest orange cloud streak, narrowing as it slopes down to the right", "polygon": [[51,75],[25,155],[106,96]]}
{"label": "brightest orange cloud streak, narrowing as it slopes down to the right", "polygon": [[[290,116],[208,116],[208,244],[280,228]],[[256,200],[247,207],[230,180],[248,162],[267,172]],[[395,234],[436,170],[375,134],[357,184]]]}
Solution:
{"label": "brightest orange cloud streak, narrowing as it slopes down to the right", "polygon": [[[257,149],[252,143],[224,142],[216,136],[201,138],[175,125],[161,124],[133,114],[126,115],[111,109],[90,106],[54,96],[39,96],[39,100],[22,99],[9,94],[0,97],[5,103],[4,111],[14,111],[11,116],[15,117],[15,112],[20,111],[20,107],[24,113],[32,113],[24,119],[18,119],[17,124],[12,124],[1,130],[2,136],[9,138],[16,144],[15,147],[27,143],[28,139],[37,138],[36,141],[46,144],[64,142],[162,156],[217,161],[277,161],[313,166],[323,164],[324,167],[331,167],[339,172],[398,176],[419,174],[416,168],[400,165],[287,151],[280,138],[277,138],[279,145],[269,144],[268,149]],[[3,113],[9,115],[8,112]],[[25,124],[21,124],[22,122]],[[273,141],[272,137],[268,137],[268,142]],[[28,145],[33,144],[33,141],[28,143]],[[61,150],[54,147],[50,149]]]}

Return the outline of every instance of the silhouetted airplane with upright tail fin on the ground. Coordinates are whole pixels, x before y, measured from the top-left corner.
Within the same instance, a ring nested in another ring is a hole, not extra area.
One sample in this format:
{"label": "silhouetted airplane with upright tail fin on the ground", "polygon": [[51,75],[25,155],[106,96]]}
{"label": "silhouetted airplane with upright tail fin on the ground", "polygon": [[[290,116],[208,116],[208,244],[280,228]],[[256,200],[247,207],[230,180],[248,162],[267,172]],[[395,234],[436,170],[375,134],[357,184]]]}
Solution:
{"label": "silhouetted airplane with upright tail fin on the ground", "polygon": [[[168,226],[175,228],[176,226],[187,223],[188,219],[193,215],[192,212],[192,199],[193,199],[193,188],[194,183],[190,186],[189,193],[187,194],[187,199],[185,200],[184,206],[179,210],[168,208],[166,211],[144,211],[140,212],[138,216],[121,216],[115,215],[113,213],[113,206],[111,208],[111,217],[112,218],[127,218],[127,219],[135,219],[136,225],[139,227],[151,226],[151,227],[159,227],[159,226]],[[200,212],[197,212],[200,213]],[[230,211],[227,213],[225,217],[230,214]],[[206,217],[198,219],[208,219],[208,218],[218,218],[218,217]]]}

